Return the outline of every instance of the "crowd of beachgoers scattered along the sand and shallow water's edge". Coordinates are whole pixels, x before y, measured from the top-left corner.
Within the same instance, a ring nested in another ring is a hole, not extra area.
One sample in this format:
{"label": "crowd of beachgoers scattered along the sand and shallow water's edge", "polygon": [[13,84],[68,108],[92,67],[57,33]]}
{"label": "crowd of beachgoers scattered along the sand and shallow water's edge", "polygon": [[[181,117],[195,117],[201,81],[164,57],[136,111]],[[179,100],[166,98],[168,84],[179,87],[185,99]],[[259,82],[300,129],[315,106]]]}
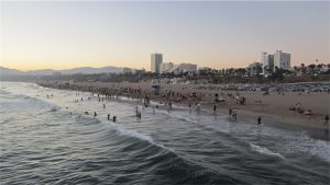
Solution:
{"label": "crowd of beachgoers scattered along the sand and shallow water's edge", "polygon": [[[98,101],[103,102],[103,97],[112,97],[112,99],[119,99],[121,96],[125,96],[128,99],[138,100],[142,102],[143,107],[148,107],[151,100],[157,101],[162,106],[166,107],[168,113],[173,109],[173,103],[177,104],[185,104],[188,105],[189,109],[194,108],[195,106],[196,112],[200,112],[201,104],[204,103],[204,100],[213,100],[213,103],[211,105],[204,104],[206,106],[209,106],[209,109],[213,109],[213,112],[217,112],[217,105],[219,106],[223,105],[222,101],[224,100],[229,103],[228,105],[237,104],[237,106],[245,106],[246,97],[240,94],[240,91],[234,92],[228,92],[228,93],[218,93],[218,92],[211,92],[211,91],[194,91],[194,89],[187,90],[187,88],[182,89],[166,89],[164,88],[162,91],[158,91],[157,93],[154,93],[152,90],[140,88],[140,86],[124,86],[118,84],[109,84],[109,85],[87,85],[87,84],[67,84],[67,83],[42,83],[41,85],[47,86],[47,88],[55,88],[55,89],[69,89],[74,91],[82,91],[82,92],[90,92],[92,95],[97,94]],[[101,96],[100,96],[101,95]],[[262,94],[262,95],[270,95]],[[280,92],[280,95],[285,95],[284,92]],[[221,99],[219,99],[221,97]],[[82,97],[81,97],[82,99]],[[77,100],[78,101],[78,100]],[[81,100],[82,101],[82,100]],[[256,104],[262,104],[262,101],[255,101]],[[103,104],[103,107],[106,108],[106,104]],[[158,105],[156,105],[156,108]],[[155,107],[152,107],[153,112],[155,112]],[[290,111],[297,111],[300,114],[304,115],[311,115],[311,109],[302,108],[299,104],[293,105],[289,107]],[[238,108],[229,108],[230,117],[233,119],[237,119],[238,117]],[[96,115],[96,113],[95,113]],[[139,112],[138,108],[135,108],[135,116],[141,119],[141,111]],[[110,119],[108,117],[108,119]],[[261,125],[261,117],[256,116],[257,124]],[[112,120],[116,120],[116,118],[112,118]]]}

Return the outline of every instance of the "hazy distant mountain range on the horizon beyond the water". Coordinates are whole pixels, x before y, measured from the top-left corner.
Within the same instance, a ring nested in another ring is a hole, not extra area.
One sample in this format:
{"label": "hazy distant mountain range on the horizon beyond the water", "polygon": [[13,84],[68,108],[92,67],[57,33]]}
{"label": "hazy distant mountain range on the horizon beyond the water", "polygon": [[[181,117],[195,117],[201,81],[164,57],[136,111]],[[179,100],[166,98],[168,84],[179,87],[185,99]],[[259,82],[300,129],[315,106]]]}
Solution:
{"label": "hazy distant mountain range on the horizon beyond the water", "polygon": [[61,72],[62,74],[74,74],[74,73],[120,73],[122,72],[122,68],[120,67],[102,67],[102,68],[91,68],[91,67],[81,67],[81,68],[73,68],[65,70],[53,70],[53,69],[41,69],[41,70],[30,70],[30,71],[20,71],[16,69],[9,69],[0,67],[0,76],[52,76],[54,72]]}

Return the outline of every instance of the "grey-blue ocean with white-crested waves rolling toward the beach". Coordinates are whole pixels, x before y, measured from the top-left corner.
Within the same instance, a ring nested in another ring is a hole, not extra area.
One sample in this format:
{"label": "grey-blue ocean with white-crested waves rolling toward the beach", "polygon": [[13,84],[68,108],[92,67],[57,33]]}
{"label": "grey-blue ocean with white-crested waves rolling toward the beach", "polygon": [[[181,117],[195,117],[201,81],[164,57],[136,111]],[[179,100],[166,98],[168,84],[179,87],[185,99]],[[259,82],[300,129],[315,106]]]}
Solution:
{"label": "grey-blue ocean with white-crested waves rolling toward the beach", "polygon": [[1,82],[0,184],[330,182],[329,141],[302,130],[257,127],[249,119],[232,122],[228,115],[186,107],[168,113],[139,105],[138,119],[138,104]]}

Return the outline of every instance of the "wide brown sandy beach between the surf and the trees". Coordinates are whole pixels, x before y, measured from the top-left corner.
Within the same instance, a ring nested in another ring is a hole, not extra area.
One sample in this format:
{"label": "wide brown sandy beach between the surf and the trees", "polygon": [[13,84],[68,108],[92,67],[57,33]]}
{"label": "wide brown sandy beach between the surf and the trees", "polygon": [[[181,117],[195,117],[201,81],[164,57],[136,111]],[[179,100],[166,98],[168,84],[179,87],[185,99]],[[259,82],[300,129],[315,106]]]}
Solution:
{"label": "wide brown sandy beach between the surf and the trees", "polygon": [[[202,109],[215,111],[215,113],[228,114],[228,109],[237,109],[238,118],[249,118],[257,123],[262,117],[263,124],[275,127],[305,129],[312,132],[316,138],[329,140],[329,124],[324,116],[329,114],[329,94],[327,92],[298,93],[298,92],[263,92],[251,91],[216,91],[205,90],[195,84],[157,84],[158,94],[152,92],[151,83],[106,83],[106,82],[74,82],[74,83],[40,83],[43,86],[55,89],[70,89],[76,91],[89,91],[97,94],[117,94],[134,99],[147,97],[160,102],[168,107],[170,104],[191,106],[196,108],[200,104]],[[216,102],[215,94],[223,95],[224,102]],[[170,94],[170,97],[168,97]],[[237,96],[244,97],[244,104],[237,103]],[[298,111],[290,111],[290,106],[297,105],[300,109],[310,111],[310,115],[304,115]],[[165,107],[166,108],[166,107]],[[326,131],[326,134],[324,134]]]}

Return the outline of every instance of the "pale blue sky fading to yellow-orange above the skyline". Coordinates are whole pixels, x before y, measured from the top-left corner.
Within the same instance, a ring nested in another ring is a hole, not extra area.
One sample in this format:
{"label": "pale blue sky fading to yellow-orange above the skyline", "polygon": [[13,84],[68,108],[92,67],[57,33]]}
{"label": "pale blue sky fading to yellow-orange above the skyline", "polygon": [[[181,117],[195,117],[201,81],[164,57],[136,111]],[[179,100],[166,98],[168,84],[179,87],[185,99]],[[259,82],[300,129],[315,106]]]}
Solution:
{"label": "pale blue sky fading to yellow-orange above the skyline", "polygon": [[280,49],[329,63],[329,1],[0,2],[0,66],[20,70],[165,62],[244,68]]}

